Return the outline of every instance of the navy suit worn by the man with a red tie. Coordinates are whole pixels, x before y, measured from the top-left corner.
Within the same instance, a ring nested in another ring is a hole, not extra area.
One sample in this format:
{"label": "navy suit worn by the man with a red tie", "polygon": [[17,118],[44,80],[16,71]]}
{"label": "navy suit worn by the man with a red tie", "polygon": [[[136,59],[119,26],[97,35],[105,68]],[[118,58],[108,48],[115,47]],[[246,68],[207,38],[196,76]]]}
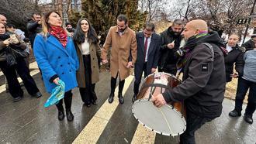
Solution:
{"label": "navy suit worn by the man with a red tie", "polygon": [[144,33],[139,32],[136,34],[137,38],[137,60],[135,63],[134,74],[135,74],[135,82],[134,82],[134,94],[138,94],[140,81],[142,72],[144,71],[144,77],[151,74],[152,68],[157,68],[157,63],[160,54],[160,46],[161,46],[161,37],[156,33],[153,33],[151,36],[150,44],[148,46],[147,52],[147,63],[145,63],[145,50],[144,50]]}

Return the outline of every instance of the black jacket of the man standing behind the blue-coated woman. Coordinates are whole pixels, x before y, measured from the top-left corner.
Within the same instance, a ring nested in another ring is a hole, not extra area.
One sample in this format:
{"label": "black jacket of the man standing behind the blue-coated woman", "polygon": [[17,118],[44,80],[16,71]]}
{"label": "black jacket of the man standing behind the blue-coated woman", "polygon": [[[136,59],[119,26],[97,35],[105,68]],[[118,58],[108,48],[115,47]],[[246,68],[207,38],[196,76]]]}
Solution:
{"label": "black jacket of the man standing behind the blue-coated woman", "polygon": [[42,32],[42,25],[38,24],[38,22],[36,21],[30,20],[26,24],[26,29],[28,30],[29,40],[31,43],[31,47],[33,48],[33,43],[34,43],[36,34]]}

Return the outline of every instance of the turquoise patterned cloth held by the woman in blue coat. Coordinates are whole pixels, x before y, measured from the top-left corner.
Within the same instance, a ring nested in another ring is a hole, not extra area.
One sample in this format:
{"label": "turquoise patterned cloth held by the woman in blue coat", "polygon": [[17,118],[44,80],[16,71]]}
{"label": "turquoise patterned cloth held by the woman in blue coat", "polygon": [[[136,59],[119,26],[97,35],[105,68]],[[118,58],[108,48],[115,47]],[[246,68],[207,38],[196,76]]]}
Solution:
{"label": "turquoise patterned cloth held by the woman in blue coat", "polygon": [[49,107],[50,105],[56,105],[62,98],[64,98],[65,83],[61,80],[57,82],[60,85],[57,85],[57,87],[55,87],[53,91],[51,91],[50,98],[48,98],[47,102],[44,104],[45,108]]}

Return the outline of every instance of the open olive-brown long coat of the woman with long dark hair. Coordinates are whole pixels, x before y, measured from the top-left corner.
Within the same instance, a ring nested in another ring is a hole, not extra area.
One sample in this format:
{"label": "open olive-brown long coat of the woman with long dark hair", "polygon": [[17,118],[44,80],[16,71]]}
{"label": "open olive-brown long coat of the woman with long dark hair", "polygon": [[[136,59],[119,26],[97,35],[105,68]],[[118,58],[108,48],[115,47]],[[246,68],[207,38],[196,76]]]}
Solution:
{"label": "open olive-brown long coat of the woman with long dark hair", "polygon": [[[88,41],[90,46],[91,68],[92,68],[92,84],[99,81],[99,65],[98,57],[100,57],[101,49],[99,43],[94,44],[90,40]],[[84,60],[81,54],[81,44],[76,43],[75,49],[78,54],[79,69],[77,71],[78,87],[85,87],[85,66]]]}

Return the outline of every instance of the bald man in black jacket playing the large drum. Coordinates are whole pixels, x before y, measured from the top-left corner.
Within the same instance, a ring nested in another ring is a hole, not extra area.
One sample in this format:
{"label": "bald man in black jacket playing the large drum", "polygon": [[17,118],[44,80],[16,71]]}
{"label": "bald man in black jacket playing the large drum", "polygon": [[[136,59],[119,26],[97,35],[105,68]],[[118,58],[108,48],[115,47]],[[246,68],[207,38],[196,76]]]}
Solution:
{"label": "bald man in black jacket playing the large drum", "polygon": [[195,131],[206,122],[220,117],[225,91],[225,67],[222,39],[209,33],[205,21],[188,22],[182,32],[187,42],[181,56],[183,82],[158,94],[152,101],[161,107],[170,101],[185,100],[187,128],[180,135],[181,143],[195,143]]}

